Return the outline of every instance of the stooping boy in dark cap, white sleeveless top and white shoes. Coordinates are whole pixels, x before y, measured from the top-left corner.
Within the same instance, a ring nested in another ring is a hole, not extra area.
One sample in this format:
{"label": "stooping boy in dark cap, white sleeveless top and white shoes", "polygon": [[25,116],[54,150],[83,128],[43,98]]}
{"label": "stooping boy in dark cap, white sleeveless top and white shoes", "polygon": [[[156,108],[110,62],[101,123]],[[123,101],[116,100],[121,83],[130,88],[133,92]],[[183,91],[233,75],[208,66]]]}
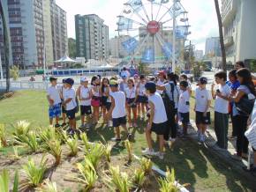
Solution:
{"label": "stooping boy in dark cap, white sleeveless top and white shoes", "polygon": [[[148,148],[145,151],[142,151],[142,153],[145,155],[157,155],[159,159],[163,159],[163,135],[166,133],[167,129],[167,114],[162,97],[156,92],[156,85],[154,82],[148,82],[145,85],[145,88],[148,95],[150,111],[147,129],[145,130]],[[159,152],[154,152],[151,138],[152,131],[154,131],[159,138]]]}

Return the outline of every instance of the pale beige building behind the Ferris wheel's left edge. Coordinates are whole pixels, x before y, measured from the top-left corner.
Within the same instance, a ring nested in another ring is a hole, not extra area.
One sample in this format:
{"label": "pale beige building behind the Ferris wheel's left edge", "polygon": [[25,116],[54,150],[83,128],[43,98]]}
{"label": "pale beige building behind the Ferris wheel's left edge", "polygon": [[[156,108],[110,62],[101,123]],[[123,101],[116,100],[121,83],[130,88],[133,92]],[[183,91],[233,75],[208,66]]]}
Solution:
{"label": "pale beige building behind the Ferris wheel's left edge", "polygon": [[110,55],[114,58],[123,58],[128,56],[128,52],[122,46],[122,42],[127,41],[131,38],[129,35],[121,35],[114,37],[109,40],[109,51]]}

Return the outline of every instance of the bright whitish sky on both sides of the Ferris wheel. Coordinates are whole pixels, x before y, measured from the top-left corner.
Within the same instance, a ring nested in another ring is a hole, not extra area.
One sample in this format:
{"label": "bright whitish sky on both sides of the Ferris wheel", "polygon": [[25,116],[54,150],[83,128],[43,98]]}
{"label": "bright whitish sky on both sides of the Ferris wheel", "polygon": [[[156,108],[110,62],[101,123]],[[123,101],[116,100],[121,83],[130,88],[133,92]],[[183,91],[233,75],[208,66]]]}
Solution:
{"label": "bright whitish sky on both sides of the Ferris wheel", "polygon": [[[109,26],[109,37],[117,35],[117,15],[120,15],[127,0],[56,0],[56,4],[67,12],[68,36],[75,38],[75,14],[97,14]],[[214,0],[181,0],[188,11],[189,40],[197,49],[205,49],[207,37],[218,36],[218,24]]]}

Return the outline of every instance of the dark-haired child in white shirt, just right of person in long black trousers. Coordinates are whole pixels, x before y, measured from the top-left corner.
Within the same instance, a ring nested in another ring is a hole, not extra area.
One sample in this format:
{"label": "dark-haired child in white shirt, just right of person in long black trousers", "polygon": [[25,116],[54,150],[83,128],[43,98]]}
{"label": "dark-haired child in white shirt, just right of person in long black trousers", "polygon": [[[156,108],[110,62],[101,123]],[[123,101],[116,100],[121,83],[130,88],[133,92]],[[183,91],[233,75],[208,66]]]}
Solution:
{"label": "dark-haired child in white shirt, just right of person in long black trousers", "polygon": [[183,135],[186,136],[188,123],[190,122],[190,117],[189,117],[190,93],[187,89],[188,83],[186,81],[181,81],[179,83],[179,87],[181,92],[179,94],[177,112],[179,115],[179,120],[182,122]]}

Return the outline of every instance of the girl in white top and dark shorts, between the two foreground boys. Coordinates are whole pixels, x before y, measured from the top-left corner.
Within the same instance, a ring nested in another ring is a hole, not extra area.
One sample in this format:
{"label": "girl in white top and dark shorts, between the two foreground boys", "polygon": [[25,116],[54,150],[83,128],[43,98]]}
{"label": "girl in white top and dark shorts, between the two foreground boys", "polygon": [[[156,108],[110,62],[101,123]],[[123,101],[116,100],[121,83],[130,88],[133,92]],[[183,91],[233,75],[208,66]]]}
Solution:
{"label": "girl in white top and dark shorts, between the two foreground boys", "polygon": [[136,98],[137,92],[136,87],[134,86],[134,82],[132,78],[128,79],[128,87],[124,90],[126,96],[126,109],[128,112],[128,122],[129,127],[132,127],[131,113],[133,114],[133,127],[137,127],[137,105]]}

